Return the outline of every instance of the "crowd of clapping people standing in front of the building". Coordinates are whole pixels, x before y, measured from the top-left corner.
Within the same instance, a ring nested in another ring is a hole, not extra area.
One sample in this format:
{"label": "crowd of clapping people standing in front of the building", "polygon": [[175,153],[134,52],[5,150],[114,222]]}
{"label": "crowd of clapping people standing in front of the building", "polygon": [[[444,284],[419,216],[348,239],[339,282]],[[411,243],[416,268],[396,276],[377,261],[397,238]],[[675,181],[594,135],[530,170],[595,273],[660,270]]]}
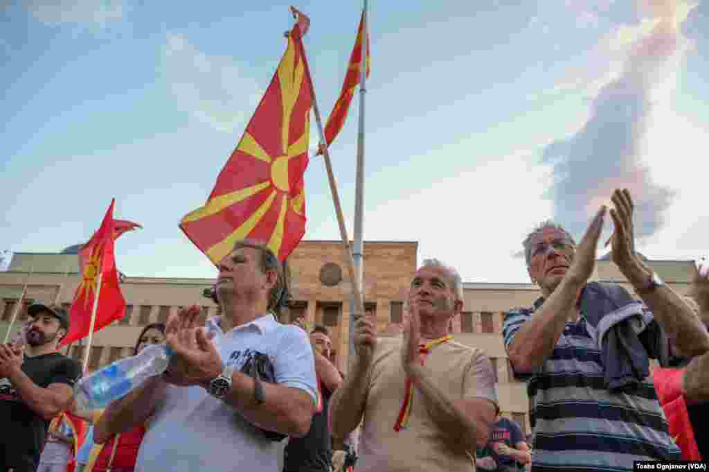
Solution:
{"label": "crowd of clapping people standing in front of the building", "polygon": [[[238,241],[218,265],[221,315],[201,326],[190,307],[146,326],[133,353],[166,343],[167,371],[104,411],[75,408],[81,368],[57,352],[67,312],[31,305],[25,346],[0,346],[0,472],[601,472],[709,460],[709,268],[689,297],[671,290],[635,251],[630,193],[612,201],[579,243],[552,221],[523,241],[540,297],[510,307],[503,341],[527,382],[530,437],[501,415],[486,353],[452,336],[463,289],[451,265],[423,261],[400,335],[357,314],[345,375],[325,327],[274,314],[286,289],[278,258]],[[637,297],[590,280],[608,213],[611,258]]]}

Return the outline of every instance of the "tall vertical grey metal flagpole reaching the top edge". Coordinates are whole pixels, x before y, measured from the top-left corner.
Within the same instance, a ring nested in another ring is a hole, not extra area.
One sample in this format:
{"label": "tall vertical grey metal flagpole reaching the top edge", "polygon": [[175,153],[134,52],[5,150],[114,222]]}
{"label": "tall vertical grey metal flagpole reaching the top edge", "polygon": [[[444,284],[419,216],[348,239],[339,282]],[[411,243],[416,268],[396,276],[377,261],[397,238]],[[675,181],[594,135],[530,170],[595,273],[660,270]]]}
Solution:
{"label": "tall vertical grey metal flagpole reaching the top edge", "polygon": [[[354,276],[364,295],[364,97],[367,94],[367,0],[362,7],[362,54],[359,60],[359,131],[357,133],[357,182],[354,190]],[[354,304],[350,304],[350,312],[354,312]],[[364,312],[363,312],[364,314]],[[350,317],[350,355],[354,356],[354,318]]]}

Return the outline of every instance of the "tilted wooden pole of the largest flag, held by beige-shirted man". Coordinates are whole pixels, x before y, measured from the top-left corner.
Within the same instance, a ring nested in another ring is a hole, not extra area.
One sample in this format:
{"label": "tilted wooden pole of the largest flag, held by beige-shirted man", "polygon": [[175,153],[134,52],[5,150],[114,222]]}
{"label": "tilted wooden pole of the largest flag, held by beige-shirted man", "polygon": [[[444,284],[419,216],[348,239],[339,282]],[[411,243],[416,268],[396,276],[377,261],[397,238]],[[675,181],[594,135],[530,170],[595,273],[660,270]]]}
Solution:
{"label": "tilted wooden pole of the largest flag, held by beige-shirted man", "polygon": [[[303,47],[302,38],[296,41],[296,45],[303,57],[303,65],[305,65],[306,79],[311,89],[311,97],[313,97],[313,114],[318,125],[318,133],[320,134],[320,148],[323,150],[323,158],[325,160],[325,170],[328,172],[328,182],[330,182],[330,192],[333,194],[333,204],[335,204],[335,215],[337,216],[337,224],[340,226],[340,236],[342,236],[342,246],[345,250],[345,265],[347,265],[347,273],[352,280],[352,299],[354,306],[357,307],[352,313],[364,313],[364,300],[362,300],[361,285],[359,279],[355,277],[354,263],[352,262],[352,250],[350,249],[350,238],[347,236],[347,227],[345,226],[345,217],[342,216],[342,206],[340,205],[340,195],[337,193],[337,182],[333,174],[333,163],[330,161],[330,151],[328,150],[328,141],[325,139],[325,128],[323,128],[323,120],[320,118],[320,109],[318,109],[318,101],[315,95],[315,87],[313,87],[313,78],[311,77],[308,60],[306,60],[306,51]],[[350,316],[352,318],[352,316]]]}

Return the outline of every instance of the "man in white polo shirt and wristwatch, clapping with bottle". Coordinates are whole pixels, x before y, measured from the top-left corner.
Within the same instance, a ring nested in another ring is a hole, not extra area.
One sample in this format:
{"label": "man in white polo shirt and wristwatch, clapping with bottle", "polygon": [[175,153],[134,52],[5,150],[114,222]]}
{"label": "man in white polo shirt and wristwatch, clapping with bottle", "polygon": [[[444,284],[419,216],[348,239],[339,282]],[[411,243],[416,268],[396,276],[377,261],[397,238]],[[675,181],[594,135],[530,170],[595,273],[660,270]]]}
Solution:
{"label": "man in white polo shirt and wristwatch, clapping with bottle", "polygon": [[[205,330],[197,325],[198,307],[172,315],[166,375],[104,413],[113,433],[152,415],[136,472],[275,472],[279,443],[264,430],[301,437],[310,429],[318,400],[310,341],[270,312],[284,290],[281,263],[266,246],[240,241],[218,268],[223,316],[209,319]],[[260,354],[271,362],[275,383],[240,372]]]}

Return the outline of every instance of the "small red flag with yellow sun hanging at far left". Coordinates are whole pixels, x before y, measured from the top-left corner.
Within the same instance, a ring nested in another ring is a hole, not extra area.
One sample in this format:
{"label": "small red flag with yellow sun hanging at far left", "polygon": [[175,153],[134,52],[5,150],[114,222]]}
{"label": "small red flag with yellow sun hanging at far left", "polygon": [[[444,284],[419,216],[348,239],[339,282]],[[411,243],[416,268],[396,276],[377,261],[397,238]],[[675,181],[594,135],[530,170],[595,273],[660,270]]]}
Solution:
{"label": "small red flag with yellow sun hanging at far left", "polygon": [[[113,239],[116,236],[116,223],[113,220],[113,204],[115,202],[115,199],[111,200],[111,206],[108,207],[101,227],[79,250],[82,282],[74,293],[72,309],[69,313],[71,319],[69,333],[62,339],[60,346],[89,335],[91,312],[94,309],[97,293],[99,304],[96,307],[94,332],[111,324],[116,319],[121,319],[125,313],[125,299],[121,294],[121,288],[118,287],[118,271],[116,270],[116,259],[113,257]],[[100,274],[102,275],[99,290]]]}

